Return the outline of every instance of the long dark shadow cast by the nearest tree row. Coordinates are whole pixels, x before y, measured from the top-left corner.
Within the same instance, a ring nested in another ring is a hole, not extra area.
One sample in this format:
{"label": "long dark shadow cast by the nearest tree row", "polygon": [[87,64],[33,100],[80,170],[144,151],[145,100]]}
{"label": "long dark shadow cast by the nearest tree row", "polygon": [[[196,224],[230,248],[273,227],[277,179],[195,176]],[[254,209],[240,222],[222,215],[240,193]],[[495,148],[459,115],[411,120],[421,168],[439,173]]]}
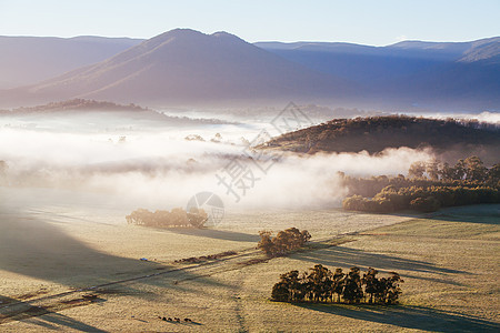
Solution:
{"label": "long dark shadow cast by the nearest tree row", "polygon": [[424,306],[374,306],[340,304],[294,304],[311,311],[432,332],[499,332],[500,324],[481,317]]}

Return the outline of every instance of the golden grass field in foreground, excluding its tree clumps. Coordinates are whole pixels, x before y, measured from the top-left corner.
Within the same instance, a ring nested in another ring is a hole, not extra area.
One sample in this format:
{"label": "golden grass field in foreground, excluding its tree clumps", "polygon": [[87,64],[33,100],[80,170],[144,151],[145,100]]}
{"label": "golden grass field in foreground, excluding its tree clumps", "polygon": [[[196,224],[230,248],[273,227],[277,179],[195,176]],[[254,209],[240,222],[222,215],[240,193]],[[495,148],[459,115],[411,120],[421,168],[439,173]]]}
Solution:
{"label": "golden grass field in foreground, excluding its tree clumps", "polygon": [[[26,206],[6,194],[0,211],[1,332],[500,330],[499,205],[448,209],[426,218],[341,210],[228,212],[213,229],[156,230],[127,225],[122,208],[50,205],[42,199]],[[289,226],[308,229],[321,240],[359,233],[259,262],[263,256],[252,250],[257,232]],[[228,250],[239,254],[201,265],[173,263]],[[280,273],[316,263],[397,271],[406,281],[401,304],[269,301]],[[120,282],[130,278],[140,279]],[[88,301],[86,294],[98,297]]]}

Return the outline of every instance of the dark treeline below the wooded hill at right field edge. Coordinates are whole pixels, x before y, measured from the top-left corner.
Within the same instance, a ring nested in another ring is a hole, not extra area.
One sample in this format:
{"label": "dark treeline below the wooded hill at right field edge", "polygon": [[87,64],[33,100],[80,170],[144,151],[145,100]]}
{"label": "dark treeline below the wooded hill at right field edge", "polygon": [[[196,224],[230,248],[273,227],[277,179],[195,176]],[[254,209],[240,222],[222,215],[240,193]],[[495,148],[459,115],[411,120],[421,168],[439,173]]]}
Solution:
{"label": "dark treeline below the wooded hill at right field edge", "polygon": [[500,163],[488,169],[477,157],[459,160],[456,165],[439,161],[417,162],[410,167],[408,175],[343,176],[351,196],[342,202],[342,206],[346,210],[390,213],[500,203]]}

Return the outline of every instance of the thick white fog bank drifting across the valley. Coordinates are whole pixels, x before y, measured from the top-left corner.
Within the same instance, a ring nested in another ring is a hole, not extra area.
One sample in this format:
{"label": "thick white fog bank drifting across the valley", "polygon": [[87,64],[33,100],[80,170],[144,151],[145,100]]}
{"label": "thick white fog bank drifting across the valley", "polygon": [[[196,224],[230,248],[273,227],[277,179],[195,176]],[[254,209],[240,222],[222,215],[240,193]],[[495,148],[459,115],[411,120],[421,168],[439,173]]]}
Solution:
{"label": "thick white fog bank drifting across the valley", "polygon": [[[109,202],[152,210],[186,206],[202,191],[217,193],[233,209],[336,208],[346,194],[339,171],[358,176],[406,174],[414,161],[433,157],[431,151],[406,148],[378,155],[284,154],[270,160],[272,165],[264,173],[243,153],[242,138],[251,141],[259,133],[258,124],[117,128],[109,132],[41,128],[0,130],[0,160],[9,165],[4,180],[9,186],[94,192]],[[188,141],[189,134],[204,141]],[[231,188],[239,198],[217,178],[226,176],[229,182],[228,165],[234,164],[252,173],[252,178],[247,173],[244,192],[238,185]]]}

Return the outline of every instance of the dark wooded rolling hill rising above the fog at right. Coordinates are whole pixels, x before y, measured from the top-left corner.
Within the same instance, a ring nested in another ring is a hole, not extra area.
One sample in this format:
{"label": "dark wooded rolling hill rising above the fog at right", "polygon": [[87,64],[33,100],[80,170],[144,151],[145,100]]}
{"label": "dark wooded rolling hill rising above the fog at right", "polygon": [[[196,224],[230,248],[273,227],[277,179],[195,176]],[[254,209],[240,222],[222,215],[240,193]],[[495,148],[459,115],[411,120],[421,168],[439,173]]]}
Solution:
{"label": "dark wooded rolling hill rising above the fog at right", "polygon": [[[484,160],[500,153],[500,129],[474,121],[437,120],[406,115],[334,119],[286,133],[267,149],[313,154],[318,152],[378,153],[387,148],[432,148],[438,153],[473,151]],[[454,159],[454,157],[453,157]]]}

